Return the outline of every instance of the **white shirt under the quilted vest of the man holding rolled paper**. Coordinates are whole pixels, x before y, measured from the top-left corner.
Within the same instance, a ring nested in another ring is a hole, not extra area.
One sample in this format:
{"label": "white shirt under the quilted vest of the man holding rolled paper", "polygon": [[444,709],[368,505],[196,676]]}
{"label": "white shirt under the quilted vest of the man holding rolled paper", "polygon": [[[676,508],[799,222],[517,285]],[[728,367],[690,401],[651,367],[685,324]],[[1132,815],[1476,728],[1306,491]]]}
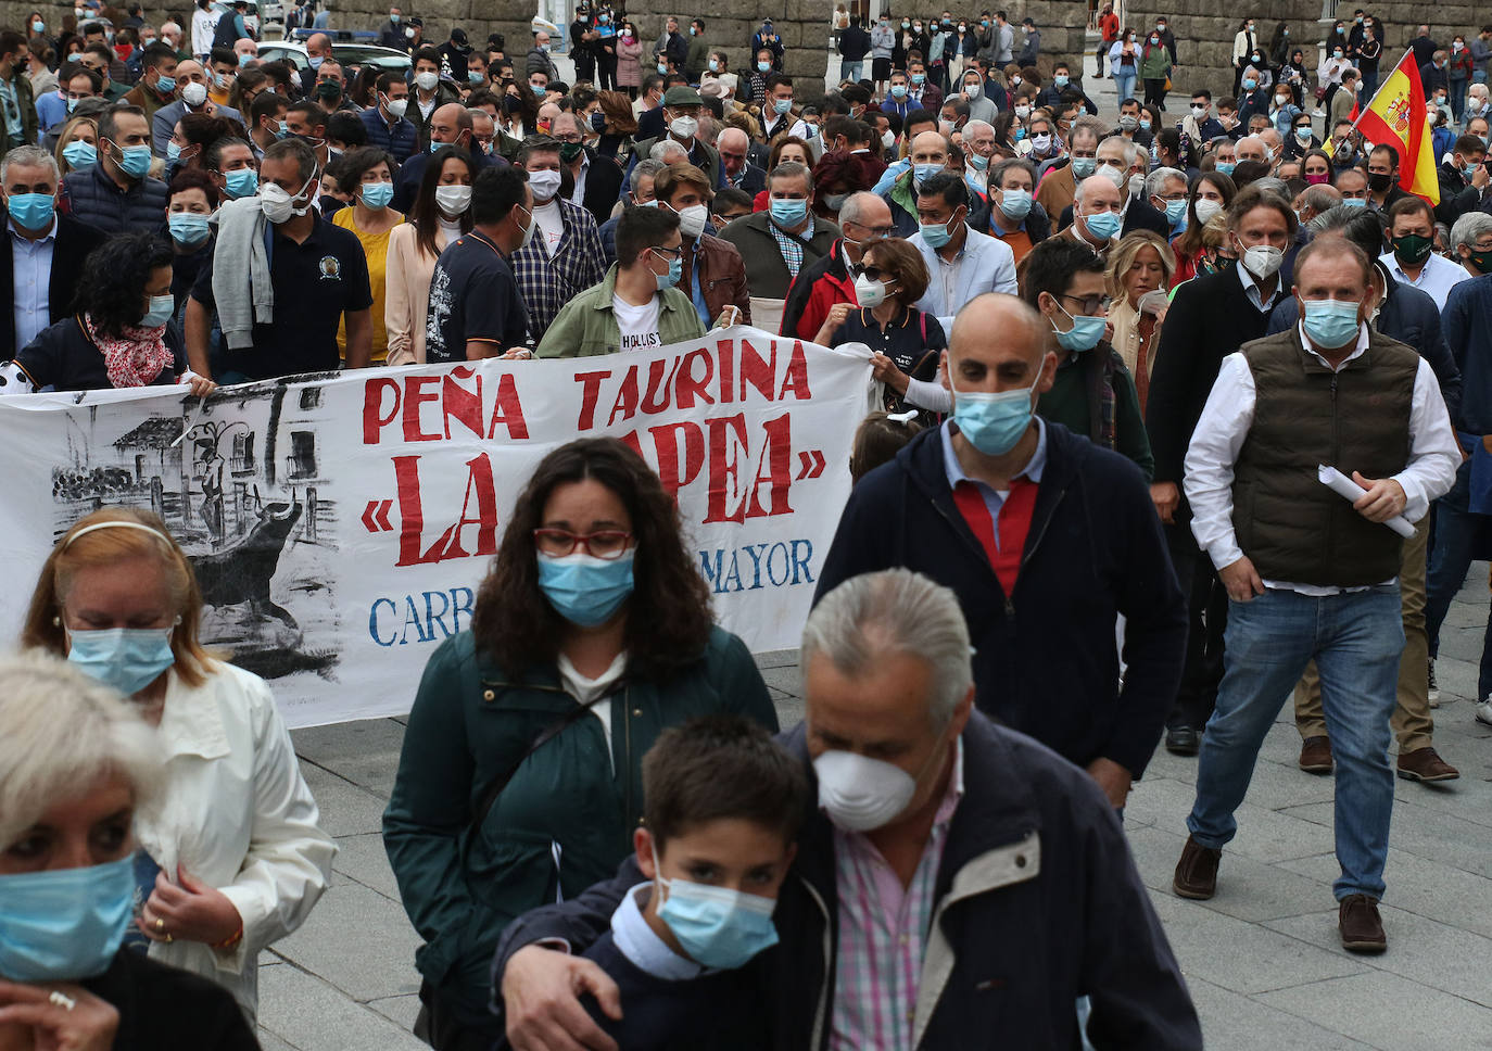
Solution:
{"label": "white shirt under the quilted vest of the man holding rolled paper", "polygon": [[[1241,267],[1235,267],[1241,273]],[[1300,326],[1301,343],[1331,368],[1331,364],[1316,352],[1306,329]],[[1347,362],[1367,353],[1368,326],[1358,326],[1358,346],[1335,367],[1341,371]],[[1186,499],[1192,505],[1192,534],[1197,543],[1219,569],[1232,565],[1244,556],[1232,528],[1232,482],[1234,465],[1243,449],[1249,429],[1253,426],[1253,408],[1258,392],[1253,386],[1253,371],[1241,352],[1223,358],[1217,382],[1207,395],[1192,443],[1186,450]],[[1408,416],[1410,458],[1394,480],[1404,487],[1407,499],[1404,517],[1419,522],[1429,510],[1429,501],[1450,490],[1461,465],[1461,447],[1450,429],[1450,414],[1440,394],[1435,373],[1423,358],[1414,371],[1414,395]],[[1331,464],[1346,476],[1352,476],[1352,464]],[[1385,581],[1388,583],[1388,581]],[[1301,595],[1335,595],[1341,587],[1322,587],[1280,580],[1265,580],[1265,587],[1292,590]]]}

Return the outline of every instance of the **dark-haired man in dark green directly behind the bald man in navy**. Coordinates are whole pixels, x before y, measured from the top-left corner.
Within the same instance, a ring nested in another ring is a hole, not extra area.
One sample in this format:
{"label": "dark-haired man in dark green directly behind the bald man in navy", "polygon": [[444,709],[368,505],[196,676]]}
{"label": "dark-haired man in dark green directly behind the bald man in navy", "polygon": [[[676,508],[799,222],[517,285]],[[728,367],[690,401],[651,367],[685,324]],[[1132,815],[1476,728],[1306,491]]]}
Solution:
{"label": "dark-haired man in dark green directly behind the bald man in navy", "polygon": [[1128,456],[1146,479],[1155,477],[1134,377],[1104,338],[1104,261],[1077,242],[1053,237],[1031,249],[1022,267],[1021,295],[1046,321],[1047,350],[1058,361],[1037,414]]}

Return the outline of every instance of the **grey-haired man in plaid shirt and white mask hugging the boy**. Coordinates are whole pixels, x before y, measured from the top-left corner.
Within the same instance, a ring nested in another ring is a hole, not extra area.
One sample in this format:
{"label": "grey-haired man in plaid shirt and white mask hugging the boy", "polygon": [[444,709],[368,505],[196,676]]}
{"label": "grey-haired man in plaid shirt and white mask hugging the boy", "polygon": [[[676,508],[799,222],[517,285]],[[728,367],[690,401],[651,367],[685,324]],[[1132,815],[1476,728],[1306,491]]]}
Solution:
{"label": "grey-haired man in plaid shirt and white mask hugging the boy", "polygon": [[[809,616],[804,720],[782,742],[819,808],[776,900],[780,942],[746,965],[773,1047],[949,1048],[991,1027],[1077,1047],[1080,996],[1098,1047],[1201,1047],[1119,823],[1082,774],[974,711],[970,641],[958,596],[907,569],[847,580]],[[606,1047],[576,996],[615,1005],[616,984],[537,942],[579,953],[640,883],[628,860],[507,929],[494,979],[515,1048]]]}

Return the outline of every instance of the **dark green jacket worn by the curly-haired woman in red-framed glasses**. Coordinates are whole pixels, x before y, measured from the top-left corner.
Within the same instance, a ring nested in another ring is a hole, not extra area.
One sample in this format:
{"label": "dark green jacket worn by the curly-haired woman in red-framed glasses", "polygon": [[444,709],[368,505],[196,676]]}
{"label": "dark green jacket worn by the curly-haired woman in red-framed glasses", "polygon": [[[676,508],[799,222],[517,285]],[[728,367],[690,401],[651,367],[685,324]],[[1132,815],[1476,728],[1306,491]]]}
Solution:
{"label": "dark green jacket worn by the curly-haired woman in red-framed glasses", "polygon": [[719,711],[777,729],[750,653],[719,628],[667,686],[624,689],[612,701],[610,756],[600,720],[576,720],[524,760],[468,835],[483,790],[576,701],[552,666],[507,675],[476,653],[471,632],[442,643],[425,665],[383,811],[383,847],[425,939],[415,963],[468,1024],[491,1024],[488,969],[503,929],[557,894],[568,899],[610,878],[631,853],[642,759],[664,729]]}

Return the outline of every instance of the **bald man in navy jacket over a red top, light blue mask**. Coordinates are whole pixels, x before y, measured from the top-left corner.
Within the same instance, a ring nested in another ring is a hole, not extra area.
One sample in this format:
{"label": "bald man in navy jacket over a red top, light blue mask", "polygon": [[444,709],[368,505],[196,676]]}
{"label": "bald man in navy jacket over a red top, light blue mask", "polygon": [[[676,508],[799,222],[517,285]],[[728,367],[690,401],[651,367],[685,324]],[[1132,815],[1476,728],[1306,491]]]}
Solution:
{"label": "bald man in navy jacket over a red top, light blue mask", "polygon": [[1088,769],[1118,808],[1161,738],[1186,604],[1140,470],[1035,416],[1056,373],[1047,328],[1000,292],[959,312],[941,362],[953,413],[850,492],[816,598],[898,565],[952,587],[980,710]]}

